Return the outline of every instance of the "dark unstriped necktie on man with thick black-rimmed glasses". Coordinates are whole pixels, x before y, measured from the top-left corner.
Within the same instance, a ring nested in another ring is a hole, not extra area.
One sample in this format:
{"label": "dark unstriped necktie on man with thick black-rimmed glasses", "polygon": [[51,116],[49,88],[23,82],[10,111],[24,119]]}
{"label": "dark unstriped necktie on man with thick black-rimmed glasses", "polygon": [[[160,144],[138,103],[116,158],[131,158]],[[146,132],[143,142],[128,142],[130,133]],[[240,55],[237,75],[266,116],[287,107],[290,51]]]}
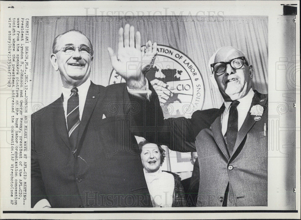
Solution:
{"label": "dark unstriped necktie on man with thick black-rimmed glasses", "polygon": [[239,104],[239,101],[235,100],[230,105],[230,111],[229,111],[229,118],[228,118],[228,125],[227,125],[227,148],[229,155],[232,155],[236,137],[237,137],[237,131],[238,131],[238,112],[237,112],[237,105]]}

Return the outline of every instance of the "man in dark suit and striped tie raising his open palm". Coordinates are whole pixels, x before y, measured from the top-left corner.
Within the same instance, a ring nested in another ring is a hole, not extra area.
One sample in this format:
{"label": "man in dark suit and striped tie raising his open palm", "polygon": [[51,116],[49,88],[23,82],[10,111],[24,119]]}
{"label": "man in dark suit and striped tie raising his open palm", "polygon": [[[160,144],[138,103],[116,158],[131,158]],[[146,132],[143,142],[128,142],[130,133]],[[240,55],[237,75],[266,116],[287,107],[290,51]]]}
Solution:
{"label": "man in dark suit and striped tie raising his open palm", "polygon": [[[104,87],[89,79],[93,48],[83,33],[70,30],[54,39],[50,60],[63,88],[60,98],[32,115],[32,207],[151,207],[130,132],[132,115],[141,110],[135,100],[143,96],[135,91],[148,86],[142,71],[156,53],[148,42],[141,54],[140,41],[134,27],[120,28],[118,55],[108,52],[127,83]],[[130,58],[137,60],[136,71],[127,71]]]}

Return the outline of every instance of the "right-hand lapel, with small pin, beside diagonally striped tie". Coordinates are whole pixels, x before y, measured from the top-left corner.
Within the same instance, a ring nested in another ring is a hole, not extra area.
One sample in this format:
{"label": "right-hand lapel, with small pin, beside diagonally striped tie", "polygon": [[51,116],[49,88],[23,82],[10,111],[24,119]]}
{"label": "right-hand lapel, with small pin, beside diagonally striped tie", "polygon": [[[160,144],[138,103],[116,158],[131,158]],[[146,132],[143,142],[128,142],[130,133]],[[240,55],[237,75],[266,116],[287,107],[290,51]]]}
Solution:
{"label": "right-hand lapel, with small pin, beside diagonally striped tie", "polygon": [[85,106],[84,106],[84,109],[82,112],[82,120],[80,121],[80,124],[79,124],[79,133],[78,133],[77,144],[76,144],[77,152],[79,152],[78,147],[79,147],[80,139],[82,138],[82,134],[84,133],[84,130],[88,124],[88,121],[90,120],[90,117],[95,108],[95,105],[96,105],[97,101],[104,98],[104,95],[105,95],[104,88],[105,87],[103,87],[103,88],[99,87],[91,82],[91,85],[90,85],[88,93],[87,93]]}

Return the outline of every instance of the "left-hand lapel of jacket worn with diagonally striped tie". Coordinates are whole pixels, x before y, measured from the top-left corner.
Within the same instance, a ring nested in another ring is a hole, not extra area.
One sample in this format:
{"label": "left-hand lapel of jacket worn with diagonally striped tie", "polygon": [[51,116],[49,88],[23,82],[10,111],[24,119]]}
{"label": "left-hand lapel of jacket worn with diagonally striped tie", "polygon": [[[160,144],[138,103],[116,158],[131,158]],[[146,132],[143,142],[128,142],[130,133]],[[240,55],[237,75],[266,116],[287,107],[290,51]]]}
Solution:
{"label": "left-hand lapel of jacket worn with diagonally striped tie", "polygon": [[65,118],[65,112],[63,107],[63,94],[54,103],[53,118],[55,122],[55,129],[59,134],[59,137],[64,141],[64,143],[71,149],[68,137],[68,130]]}

